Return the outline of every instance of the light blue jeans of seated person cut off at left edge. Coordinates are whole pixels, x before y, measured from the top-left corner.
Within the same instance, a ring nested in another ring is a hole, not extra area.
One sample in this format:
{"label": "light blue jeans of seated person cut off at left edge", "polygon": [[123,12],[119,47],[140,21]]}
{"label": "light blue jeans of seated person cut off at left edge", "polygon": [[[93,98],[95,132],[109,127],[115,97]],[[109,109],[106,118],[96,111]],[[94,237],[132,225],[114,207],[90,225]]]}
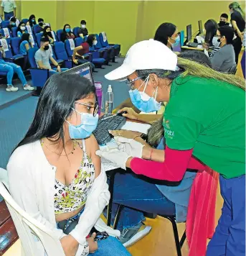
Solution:
{"label": "light blue jeans of seated person cut off at left edge", "polygon": [[24,73],[22,71],[22,68],[19,65],[16,65],[14,63],[7,63],[4,60],[0,60],[0,71],[7,73],[7,85],[12,86],[12,78],[14,76],[14,73],[16,73],[22,82],[22,85],[25,86],[27,84],[27,80],[24,76]]}

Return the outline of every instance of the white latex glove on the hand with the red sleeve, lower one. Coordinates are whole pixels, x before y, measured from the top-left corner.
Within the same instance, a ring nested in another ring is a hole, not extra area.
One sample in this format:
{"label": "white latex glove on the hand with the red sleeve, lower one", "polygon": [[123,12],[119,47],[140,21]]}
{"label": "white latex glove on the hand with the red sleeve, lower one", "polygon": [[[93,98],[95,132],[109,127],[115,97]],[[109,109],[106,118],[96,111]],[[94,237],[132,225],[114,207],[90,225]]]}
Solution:
{"label": "white latex glove on the hand with the red sleeve, lower one", "polygon": [[105,158],[106,160],[110,161],[111,163],[114,163],[115,165],[118,165],[118,167],[124,170],[126,170],[126,161],[129,157],[131,157],[131,155],[128,155],[126,152],[122,152],[117,148],[108,151],[98,150],[95,152],[95,155]]}

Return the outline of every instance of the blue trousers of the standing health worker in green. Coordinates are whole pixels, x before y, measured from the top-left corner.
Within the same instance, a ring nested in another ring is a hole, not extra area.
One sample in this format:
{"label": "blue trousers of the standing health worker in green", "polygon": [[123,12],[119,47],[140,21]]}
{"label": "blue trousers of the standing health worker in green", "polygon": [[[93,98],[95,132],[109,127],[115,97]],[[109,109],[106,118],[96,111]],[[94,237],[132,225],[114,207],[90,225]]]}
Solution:
{"label": "blue trousers of the standing health worker in green", "polygon": [[224,204],[207,256],[245,256],[245,175],[220,175],[219,184]]}

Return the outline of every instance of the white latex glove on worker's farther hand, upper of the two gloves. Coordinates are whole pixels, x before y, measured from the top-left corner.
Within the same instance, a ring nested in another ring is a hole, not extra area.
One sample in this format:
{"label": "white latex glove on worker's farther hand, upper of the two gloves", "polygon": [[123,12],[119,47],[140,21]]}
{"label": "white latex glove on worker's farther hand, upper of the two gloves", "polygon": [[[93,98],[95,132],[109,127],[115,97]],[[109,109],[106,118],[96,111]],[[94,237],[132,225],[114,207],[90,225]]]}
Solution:
{"label": "white latex glove on worker's farther hand, upper of the two gloves", "polygon": [[136,140],[124,137],[114,137],[114,139],[117,142],[120,151],[126,152],[131,157],[142,158],[143,144],[136,142]]}

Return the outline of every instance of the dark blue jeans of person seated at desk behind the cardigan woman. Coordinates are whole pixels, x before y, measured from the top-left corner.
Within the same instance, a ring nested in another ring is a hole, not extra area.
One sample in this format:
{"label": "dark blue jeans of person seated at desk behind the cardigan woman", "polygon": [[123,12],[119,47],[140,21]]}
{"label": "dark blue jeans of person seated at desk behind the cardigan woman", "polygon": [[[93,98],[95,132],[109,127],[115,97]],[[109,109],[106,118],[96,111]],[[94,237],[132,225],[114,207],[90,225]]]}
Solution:
{"label": "dark blue jeans of person seated at desk behind the cardigan woman", "polygon": [[174,203],[169,201],[155,184],[133,173],[116,173],[113,191],[112,224],[118,204],[126,206],[121,211],[118,221],[117,229],[120,231],[143,221],[145,218],[142,211],[153,214],[175,214]]}

